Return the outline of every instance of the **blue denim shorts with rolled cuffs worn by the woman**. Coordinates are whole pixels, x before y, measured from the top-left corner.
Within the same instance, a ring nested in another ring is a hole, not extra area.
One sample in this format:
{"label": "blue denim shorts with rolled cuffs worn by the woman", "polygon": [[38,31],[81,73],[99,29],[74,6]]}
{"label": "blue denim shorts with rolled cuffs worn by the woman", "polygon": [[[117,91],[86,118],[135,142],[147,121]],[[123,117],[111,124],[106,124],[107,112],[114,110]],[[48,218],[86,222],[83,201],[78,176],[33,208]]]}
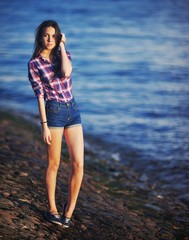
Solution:
{"label": "blue denim shorts with rolled cuffs worn by the woman", "polygon": [[50,128],[68,128],[81,125],[79,106],[75,99],[69,102],[57,102],[50,100],[46,102],[47,124]]}

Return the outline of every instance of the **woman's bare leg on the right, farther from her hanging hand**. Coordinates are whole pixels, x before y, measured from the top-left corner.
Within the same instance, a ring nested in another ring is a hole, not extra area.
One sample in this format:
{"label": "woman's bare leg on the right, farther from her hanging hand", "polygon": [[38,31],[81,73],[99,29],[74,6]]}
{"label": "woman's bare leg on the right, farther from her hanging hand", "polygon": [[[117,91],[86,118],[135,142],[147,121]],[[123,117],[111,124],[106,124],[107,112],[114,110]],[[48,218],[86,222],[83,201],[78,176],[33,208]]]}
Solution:
{"label": "woman's bare leg on the right, farther from her hanging hand", "polygon": [[65,139],[71,160],[68,204],[65,216],[71,218],[83,179],[84,143],[82,126],[73,126],[65,129]]}

